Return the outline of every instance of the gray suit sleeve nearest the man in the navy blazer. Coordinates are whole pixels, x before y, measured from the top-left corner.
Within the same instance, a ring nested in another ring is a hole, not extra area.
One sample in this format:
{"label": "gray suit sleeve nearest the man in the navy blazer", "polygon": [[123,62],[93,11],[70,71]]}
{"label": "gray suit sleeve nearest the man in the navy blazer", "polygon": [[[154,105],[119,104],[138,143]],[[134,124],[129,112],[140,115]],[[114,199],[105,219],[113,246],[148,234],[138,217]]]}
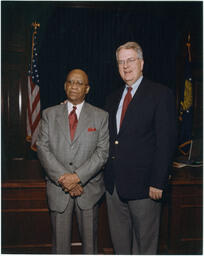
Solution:
{"label": "gray suit sleeve nearest the man in the navy blazer", "polygon": [[109,131],[108,131],[108,113],[105,113],[101,121],[98,141],[96,149],[92,156],[77,170],[82,185],[85,185],[92,177],[94,177],[103,167],[108,159],[109,153]]}

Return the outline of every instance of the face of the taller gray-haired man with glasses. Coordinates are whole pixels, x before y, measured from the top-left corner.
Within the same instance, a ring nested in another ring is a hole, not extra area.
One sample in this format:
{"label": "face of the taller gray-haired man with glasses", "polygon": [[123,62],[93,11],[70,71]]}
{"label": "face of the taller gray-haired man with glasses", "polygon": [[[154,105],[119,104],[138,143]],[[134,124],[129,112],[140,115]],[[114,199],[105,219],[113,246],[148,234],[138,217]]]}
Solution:
{"label": "face of the taller gray-haired man with glasses", "polygon": [[132,86],[142,75],[144,60],[133,49],[121,49],[118,53],[118,69],[123,81]]}

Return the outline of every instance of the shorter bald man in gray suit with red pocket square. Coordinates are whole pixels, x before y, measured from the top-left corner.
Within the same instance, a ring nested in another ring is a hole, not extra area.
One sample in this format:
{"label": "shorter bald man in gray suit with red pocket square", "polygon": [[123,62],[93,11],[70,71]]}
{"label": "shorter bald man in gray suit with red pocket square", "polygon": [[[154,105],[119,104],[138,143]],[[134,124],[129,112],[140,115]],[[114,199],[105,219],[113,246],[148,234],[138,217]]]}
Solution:
{"label": "shorter bald man in gray suit with red pocket square", "polygon": [[75,211],[83,253],[97,253],[98,201],[104,194],[100,171],[108,158],[108,113],[84,101],[87,74],[67,75],[67,104],[43,111],[37,140],[46,171],[47,197],[53,228],[53,253],[71,253],[72,214]]}

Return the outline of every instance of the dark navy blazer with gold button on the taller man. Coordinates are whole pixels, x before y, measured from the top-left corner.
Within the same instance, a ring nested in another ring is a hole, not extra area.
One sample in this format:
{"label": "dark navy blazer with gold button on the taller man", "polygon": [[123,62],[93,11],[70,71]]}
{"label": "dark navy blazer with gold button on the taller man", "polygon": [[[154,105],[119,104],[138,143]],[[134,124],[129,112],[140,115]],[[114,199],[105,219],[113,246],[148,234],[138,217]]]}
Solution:
{"label": "dark navy blazer with gold button on the taller man", "polygon": [[128,200],[149,197],[149,186],[164,189],[176,148],[177,117],[172,91],[143,78],[130,102],[119,133],[116,113],[124,87],[109,96],[110,154],[106,189],[114,184]]}

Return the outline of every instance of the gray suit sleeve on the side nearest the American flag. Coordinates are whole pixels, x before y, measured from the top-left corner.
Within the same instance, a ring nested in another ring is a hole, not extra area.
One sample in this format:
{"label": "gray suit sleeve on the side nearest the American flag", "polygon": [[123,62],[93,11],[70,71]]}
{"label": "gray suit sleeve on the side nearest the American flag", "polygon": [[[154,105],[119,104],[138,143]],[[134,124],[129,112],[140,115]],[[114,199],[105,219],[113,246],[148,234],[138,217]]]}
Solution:
{"label": "gray suit sleeve on the side nearest the American flag", "polygon": [[48,177],[59,185],[58,179],[64,173],[67,173],[65,167],[56,159],[49,147],[49,122],[45,111],[42,113],[40,130],[36,142],[37,154],[40,162],[45,169]]}

